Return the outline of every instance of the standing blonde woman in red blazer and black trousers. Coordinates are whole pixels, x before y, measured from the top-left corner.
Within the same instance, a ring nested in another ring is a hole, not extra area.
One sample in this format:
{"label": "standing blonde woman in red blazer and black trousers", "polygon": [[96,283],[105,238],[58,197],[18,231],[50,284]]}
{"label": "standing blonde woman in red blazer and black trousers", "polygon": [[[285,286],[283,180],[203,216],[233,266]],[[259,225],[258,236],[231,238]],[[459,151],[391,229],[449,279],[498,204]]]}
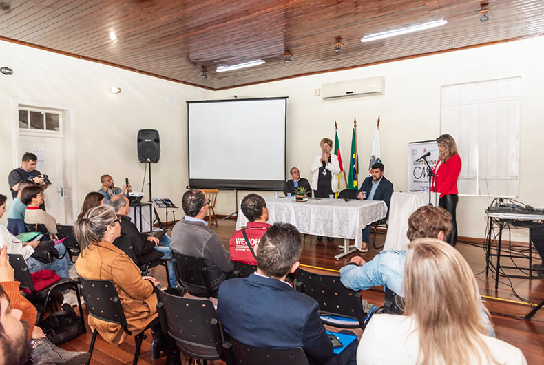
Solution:
{"label": "standing blonde woman in red blazer and black trousers", "polygon": [[437,138],[440,156],[433,169],[435,177],[432,179],[431,191],[440,193],[439,206],[452,215],[452,233],[446,242],[455,247],[457,242],[457,222],[455,219],[455,207],[457,207],[457,178],[461,172],[461,158],[457,154],[455,140],[449,134],[442,134]]}

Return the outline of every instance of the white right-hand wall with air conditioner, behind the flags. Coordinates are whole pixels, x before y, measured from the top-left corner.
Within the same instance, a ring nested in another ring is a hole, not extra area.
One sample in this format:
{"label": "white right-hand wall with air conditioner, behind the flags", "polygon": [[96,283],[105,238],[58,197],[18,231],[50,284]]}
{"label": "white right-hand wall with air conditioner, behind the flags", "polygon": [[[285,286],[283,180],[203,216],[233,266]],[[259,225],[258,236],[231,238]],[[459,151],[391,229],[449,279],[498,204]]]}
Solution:
{"label": "white right-hand wall with air conditioner, behind the flags", "polygon": [[[310,178],[313,155],[321,138],[334,138],[339,126],[344,158],[351,147],[353,118],[357,118],[359,169],[366,169],[377,116],[381,158],[395,191],[408,188],[406,167],[408,142],[432,140],[440,134],[441,86],[521,76],[521,169],[519,200],[544,208],[544,169],[539,165],[538,146],[544,136],[542,85],[544,85],[544,38],[501,43],[470,50],[448,52],[360,67],[353,70],[306,76],[216,92],[216,98],[238,95],[289,96],[287,104],[287,165],[300,168]],[[296,62],[296,55],[293,59]],[[286,64],[286,67],[289,65]],[[385,76],[384,96],[322,101],[313,90],[322,83]],[[227,204],[226,198],[218,204]],[[483,237],[485,208],[490,198],[461,196],[457,208],[459,236]],[[231,202],[229,205],[233,204]]]}

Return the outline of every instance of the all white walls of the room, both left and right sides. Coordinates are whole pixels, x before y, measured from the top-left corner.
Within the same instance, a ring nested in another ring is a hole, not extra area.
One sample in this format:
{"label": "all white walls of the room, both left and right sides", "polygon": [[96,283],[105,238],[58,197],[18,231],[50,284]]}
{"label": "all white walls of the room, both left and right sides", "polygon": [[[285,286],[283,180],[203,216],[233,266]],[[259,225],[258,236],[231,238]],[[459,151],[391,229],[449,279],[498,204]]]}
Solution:
{"label": "all white walls of the room, both left and right sides", "polygon": [[[76,118],[79,205],[88,191],[100,187],[98,178],[110,173],[116,185],[128,176],[138,190],[144,165],[136,157],[136,132],[156,128],[161,137],[160,162],[152,165],[154,196],[180,203],[187,185],[187,100],[289,96],[287,106],[287,166],[296,165],[310,178],[318,143],[334,138],[334,121],[344,155],[349,153],[353,117],[357,118],[359,158],[366,168],[377,116],[381,116],[381,155],[386,176],[396,191],[407,189],[408,142],[440,134],[442,85],[521,76],[521,169],[519,200],[544,207],[544,169],[538,145],[544,135],[541,85],[544,85],[544,38],[501,43],[353,70],[305,76],[286,81],[210,92],[171,83],[115,67],[81,61],[12,43],[0,42],[2,65],[14,69],[0,75],[0,191],[8,192],[12,166],[11,98],[74,105]],[[293,59],[293,62],[296,62]],[[286,64],[286,67],[289,67]],[[313,90],[322,83],[385,76],[386,94],[366,98],[322,101]],[[213,76],[212,76],[213,77]],[[121,94],[109,89],[117,85]],[[168,103],[167,98],[172,102]],[[173,144],[172,144],[173,143]],[[218,152],[220,153],[220,152]],[[266,152],[263,152],[266,153]],[[346,157],[344,157],[346,158]],[[203,162],[205,163],[205,162]],[[240,161],[242,166],[243,161]],[[146,187],[144,190],[147,191]],[[247,194],[241,191],[239,198]],[[271,196],[271,192],[262,193]],[[460,236],[483,237],[488,198],[461,197],[457,209]],[[234,194],[221,191],[216,213],[235,209]],[[179,212],[178,216],[180,216]],[[176,216],[176,218],[178,218]]]}

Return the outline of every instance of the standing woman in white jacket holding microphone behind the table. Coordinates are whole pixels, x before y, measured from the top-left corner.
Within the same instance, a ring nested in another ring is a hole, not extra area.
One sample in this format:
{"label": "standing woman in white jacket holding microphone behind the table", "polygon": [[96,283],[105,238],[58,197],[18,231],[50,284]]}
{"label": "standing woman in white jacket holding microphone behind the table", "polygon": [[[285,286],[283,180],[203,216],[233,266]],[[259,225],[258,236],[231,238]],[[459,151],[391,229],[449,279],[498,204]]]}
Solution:
{"label": "standing woman in white jacket holding microphone behind the table", "polygon": [[[331,154],[333,141],[329,138],[323,138],[320,142],[321,153],[316,154],[312,163],[312,183],[313,196],[315,198],[328,198],[331,194],[338,191],[338,174],[340,165],[338,157]],[[317,236],[317,241],[323,240],[322,236]],[[327,237],[327,241],[334,238]]]}

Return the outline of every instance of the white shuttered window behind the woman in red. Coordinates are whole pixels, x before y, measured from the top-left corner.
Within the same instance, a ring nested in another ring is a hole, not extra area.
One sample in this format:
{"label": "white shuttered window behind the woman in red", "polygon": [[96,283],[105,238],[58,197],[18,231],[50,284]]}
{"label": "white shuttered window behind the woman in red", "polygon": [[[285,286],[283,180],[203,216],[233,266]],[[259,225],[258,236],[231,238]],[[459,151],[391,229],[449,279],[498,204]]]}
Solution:
{"label": "white shuttered window behind the woman in red", "polygon": [[441,133],[457,142],[459,194],[519,195],[521,78],[442,87]]}

